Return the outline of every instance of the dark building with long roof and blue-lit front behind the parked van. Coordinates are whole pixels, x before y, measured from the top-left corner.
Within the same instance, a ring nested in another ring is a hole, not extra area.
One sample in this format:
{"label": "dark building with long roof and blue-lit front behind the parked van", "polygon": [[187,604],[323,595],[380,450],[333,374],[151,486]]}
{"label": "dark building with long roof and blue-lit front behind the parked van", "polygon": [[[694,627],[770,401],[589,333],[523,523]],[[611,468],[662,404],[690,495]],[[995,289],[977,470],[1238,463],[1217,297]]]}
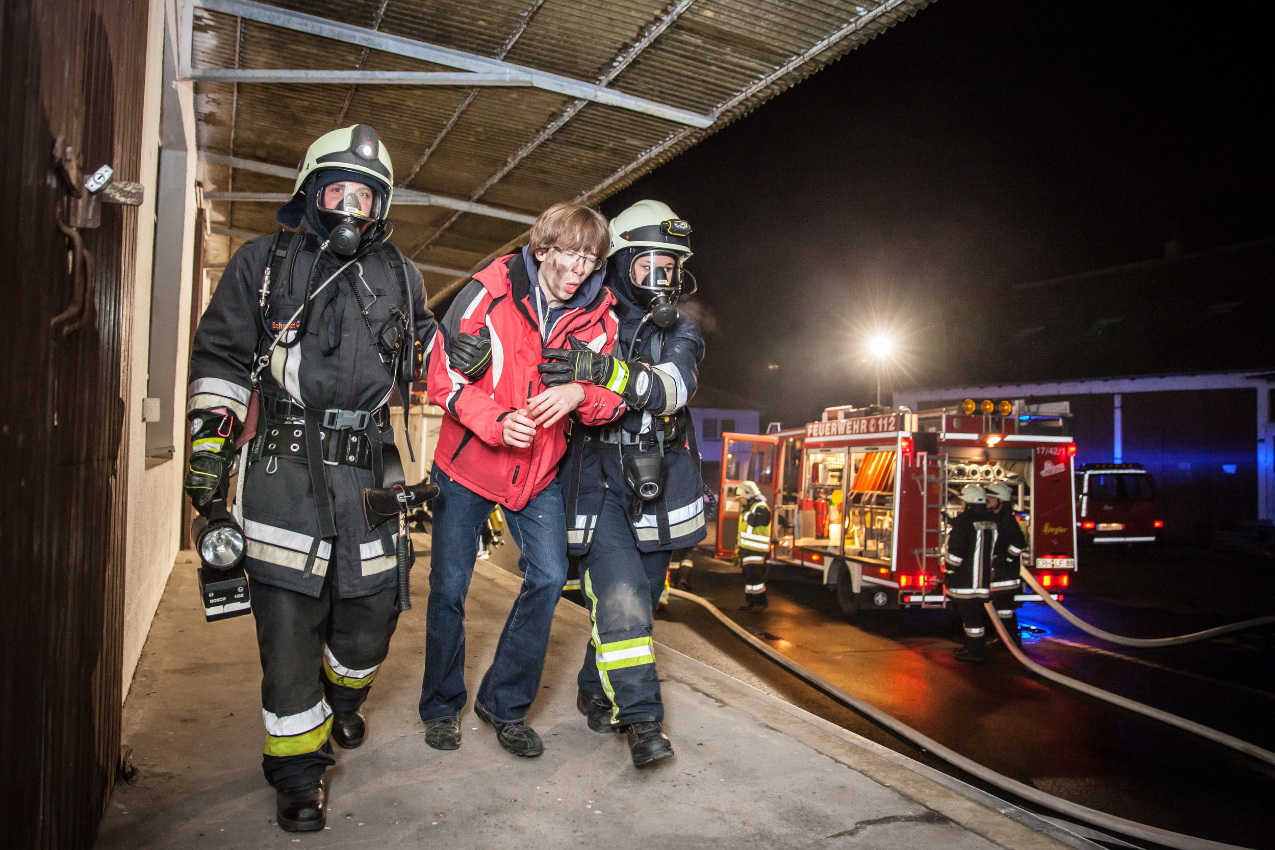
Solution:
{"label": "dark building with long roof and blue-lit front behind the parked van", "polygon": [[1275,520],[1275,238],[1012,287],[1007,311],[950,338],[977,362],[896,390],[912,409],[963,399],[1067,401],[1079,463],[1155,475],[1164,537],[1211,542]]}

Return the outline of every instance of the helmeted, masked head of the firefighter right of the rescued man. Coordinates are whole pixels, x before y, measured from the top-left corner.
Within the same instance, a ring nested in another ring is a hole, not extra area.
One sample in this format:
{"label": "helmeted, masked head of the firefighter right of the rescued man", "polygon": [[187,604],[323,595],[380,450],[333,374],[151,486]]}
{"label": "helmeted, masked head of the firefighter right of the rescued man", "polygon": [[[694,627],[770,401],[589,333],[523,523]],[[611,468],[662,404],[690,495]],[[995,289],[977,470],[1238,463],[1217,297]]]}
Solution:
{"label": "helmeted, masked head of the firefighter right of the rescued man", "polygon": [[640,200],[611,219],[609,231],[608,256],[631,251],[627,283],[639,306],[657,328],[673,328],[678,302],[697,288],[695,275],[683,268],[691,257],[691,226],[668,204]]}

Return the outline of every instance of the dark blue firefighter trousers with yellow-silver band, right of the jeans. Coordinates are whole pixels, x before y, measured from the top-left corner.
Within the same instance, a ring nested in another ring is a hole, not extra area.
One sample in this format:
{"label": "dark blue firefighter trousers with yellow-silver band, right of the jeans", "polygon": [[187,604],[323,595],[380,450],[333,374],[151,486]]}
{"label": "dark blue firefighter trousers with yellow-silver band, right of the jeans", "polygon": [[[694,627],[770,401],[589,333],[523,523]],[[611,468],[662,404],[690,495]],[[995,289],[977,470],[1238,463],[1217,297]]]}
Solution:
{"label": "dark blue firefighter trousers with yellow-silver band, right of the jeans", "polygon": [[581,691],[611,700],[611,723],[621,725],[664,719],[650,633],[672,556],[638,549],[626,502],[607,491],[593,544],[580,558],[593,636],[576,677]]}

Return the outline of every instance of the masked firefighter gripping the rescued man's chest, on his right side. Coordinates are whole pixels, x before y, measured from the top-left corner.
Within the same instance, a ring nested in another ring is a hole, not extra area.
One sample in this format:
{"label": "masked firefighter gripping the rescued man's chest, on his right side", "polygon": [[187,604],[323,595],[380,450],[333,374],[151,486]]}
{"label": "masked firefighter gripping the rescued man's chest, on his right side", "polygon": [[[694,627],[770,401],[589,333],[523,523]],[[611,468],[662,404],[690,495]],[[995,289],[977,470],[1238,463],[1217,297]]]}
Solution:
{"label": "masked firefighter gripping the rescued man's chest, on his right side", "polygon": [[560,466],[569,552],[593,635],[578,677],[576,707],[594,731],[625,731],[634,765],[673,754],[652,644],[653,610],[669,557],[704,539],[704,484],[686,404],[704,339],[677,303],[695,292],[682,269],[690,226],[644,200],[611,222],[606,283],[620,320],[615,357],[583,345],[547,349],[548,385],[589,380],[618,393],[627,412],[611,426],[572,424]]}

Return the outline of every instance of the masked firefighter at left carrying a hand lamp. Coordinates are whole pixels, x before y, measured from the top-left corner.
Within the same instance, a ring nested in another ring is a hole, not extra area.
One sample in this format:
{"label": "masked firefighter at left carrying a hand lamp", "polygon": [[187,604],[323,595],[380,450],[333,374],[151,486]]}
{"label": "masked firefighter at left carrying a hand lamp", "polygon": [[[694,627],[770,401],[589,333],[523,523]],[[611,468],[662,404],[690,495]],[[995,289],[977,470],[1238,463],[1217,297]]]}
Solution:
{"label": "masked firefighter at left carrying a hand lamp", "polygon": [[[278,231],[227,264],[191,349],[186,491],[227,500],[261,655],[263,770],[284,830],[321,830],[329,734],[358,747],[358,714],[389,651],[398,525],[368,529],[365,488],[403,482],[388,404],[432,340],[421,274],[386,240],[393,169],[376,130],[317,139]],[[244,433],[245,423],[252,428]]]}

